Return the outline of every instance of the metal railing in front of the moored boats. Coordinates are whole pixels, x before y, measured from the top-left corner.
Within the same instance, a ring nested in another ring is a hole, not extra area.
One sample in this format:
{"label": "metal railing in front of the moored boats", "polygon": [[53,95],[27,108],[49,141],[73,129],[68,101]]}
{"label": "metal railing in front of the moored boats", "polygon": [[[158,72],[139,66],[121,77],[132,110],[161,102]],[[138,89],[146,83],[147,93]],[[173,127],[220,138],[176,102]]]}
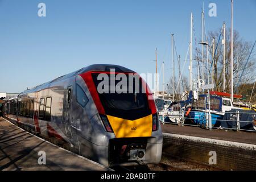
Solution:
{"label": "metal railing in front of the moored boats", "polygon": [[[209,130],[208,111],[190,111],[187,116],[185,116],[185,111],[183,110],[175,111],[175,113],[161,112],[159,111],[159,120],[163,125],[195,126]],[[256,132],[256,112],[228,111],[226,114],[218,113],[218,118],[215,115],[217,113],[212,112],[211,114],[214,115],[211,117],[213,129]]]}

